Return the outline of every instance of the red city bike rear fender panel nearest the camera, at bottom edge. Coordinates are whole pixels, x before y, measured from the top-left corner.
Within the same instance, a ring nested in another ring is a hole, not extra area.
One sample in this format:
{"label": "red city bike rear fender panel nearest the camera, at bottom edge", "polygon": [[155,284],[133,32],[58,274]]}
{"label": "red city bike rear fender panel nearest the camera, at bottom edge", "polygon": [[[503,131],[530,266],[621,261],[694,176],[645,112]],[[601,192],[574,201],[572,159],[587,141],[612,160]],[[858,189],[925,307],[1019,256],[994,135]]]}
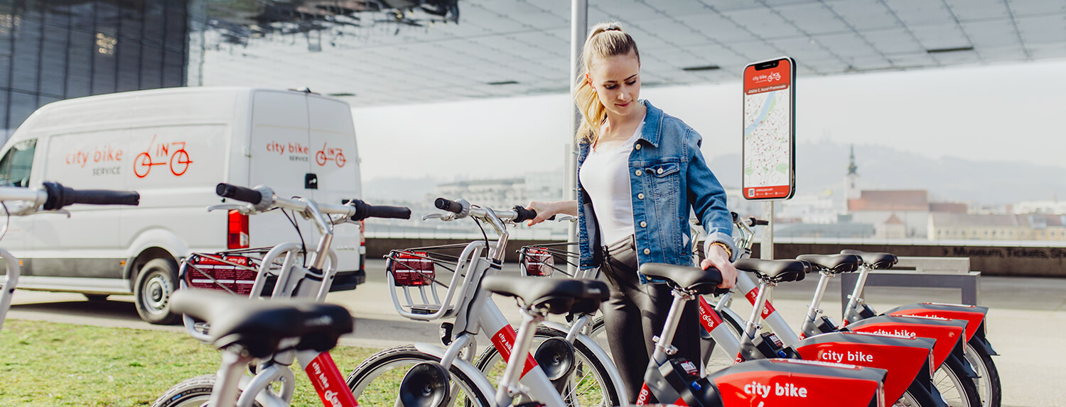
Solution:
{"label": "red city bike rear fender panel nearest the camera, at bottom edge", "polygon": [[885,371],[809,360],[760,359],[708,377],[730,406],[868,406],[884,397]]}

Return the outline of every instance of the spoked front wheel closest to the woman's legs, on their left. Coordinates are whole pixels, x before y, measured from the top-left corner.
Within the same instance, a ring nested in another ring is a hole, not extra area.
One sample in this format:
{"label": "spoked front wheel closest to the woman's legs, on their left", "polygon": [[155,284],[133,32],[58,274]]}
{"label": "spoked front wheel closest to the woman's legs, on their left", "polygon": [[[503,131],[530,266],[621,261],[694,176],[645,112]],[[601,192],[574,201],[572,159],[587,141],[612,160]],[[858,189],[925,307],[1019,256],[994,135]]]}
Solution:
{"label": "spoked front wheel closest to the woman's legs, on their left", "polygon": [[[537,327],[531,349],[536,350],[539,343],[548,338],[565,339],[566,333],[546,326]],[[604,361],[597,359],[596,355],[584,343],[575,341],[574,351],[574,373],[563,391],[563,401],[566,402],[566,405],[617,406],[621,404]],[[496,350],[496,346],[486,347],[474,362],[474,367],[485,372],[488,379],[492,381],[492,386],[497,386],[497,379],[503,375],[506,364],[506,360],[500,357],[500,352]]]}

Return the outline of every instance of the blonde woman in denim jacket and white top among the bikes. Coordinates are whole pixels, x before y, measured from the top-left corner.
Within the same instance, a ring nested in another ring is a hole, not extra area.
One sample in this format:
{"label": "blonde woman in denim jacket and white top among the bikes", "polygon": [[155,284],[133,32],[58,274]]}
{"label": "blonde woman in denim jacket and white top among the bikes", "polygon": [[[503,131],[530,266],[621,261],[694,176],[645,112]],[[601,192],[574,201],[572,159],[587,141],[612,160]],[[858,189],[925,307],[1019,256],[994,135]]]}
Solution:
{"label": "blonde woman in denim jacket and white top among the bikes", "polygon": [[[608,344],[635,401],[673,295],[636,272],[645,262],[690,266],[689,214],[707,228],[700,267],[722,272],[731,288],[732,222],[722,185],[699,152],[701,137],[664,114],[641,92],[641,57],[617,23],[594,27],[583,50],[584,75],[574,100],[584,120],[577,137],[578,200],[531,202],[530,225],[556,214],[580,218],[581,268],[600,267],[611,287],[601,310]],[[580,210],[579,210],[580,208]],[[689,302],[674,338],[678,354],[699,360],[696,302]],[[669,401],[667,401],[669,402]]]}

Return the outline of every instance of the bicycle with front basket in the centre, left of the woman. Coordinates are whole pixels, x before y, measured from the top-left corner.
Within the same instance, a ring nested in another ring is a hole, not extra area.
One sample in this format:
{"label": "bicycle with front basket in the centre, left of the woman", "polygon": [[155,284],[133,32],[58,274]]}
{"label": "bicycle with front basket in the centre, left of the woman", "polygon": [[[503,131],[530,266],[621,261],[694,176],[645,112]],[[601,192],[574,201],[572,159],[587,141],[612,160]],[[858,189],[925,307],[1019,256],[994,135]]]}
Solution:
{"label": "bicycle with front basket in the centre, left of the woman", "polygon": [[[511,350],[515,346],[517,334],[484,290],[483,279],[501,270],[510,237],[506,223],[522,222],[536,214],[520,206],[511,210],[497,210],[478,207],[464,200],[452,202],[442,198],[436,200],[435,206],[445,213],[426,215],[423,220],[452,221],[470,218],[482,227],[483,233],[483,223],[488,223],[498,238],[490,243],[488,235],[484,234],[483,240],[466,244],[413,248],[389,253],[387,279],[397,311],[416,321],[448,319],[448,322],[441,323],[441,341],[447,347],[416,343],[384,350],[369,357],[348,378],[353,394],[365,403],[394,403],[400,394],[392,385],[408,375],[418,376],[420,370],[429,369],[422,368],[425,366],[423,362],[431,362],[442,367],[442,372],[447,374],[440,375],[451,380],[445,386],[449,392],[441,402],[443,405],[462,403],[492,406],[490,396],[497,393],[496,387],[485,373],[472,364],[477,349],[475,336],[485,333],[494,347],[504,357],[511,355]],[[437,273],[450,273],[451,277]],[[446,290],[443,293],[440,292],[441,287]],[[520,383],[527,389],[527,397],[556,407],[583,404],[583,393],[591,388],[595,388],[595,392],[600,394],[613,394],[617,391],[614,383],[619,381],[613,377],[591,377],[589,381],[571,384],[571,387],[567,387],[565,376],[554,377],[553,374],[549,377],[544,367],[554,363],[548,359],[553,361],[556,357],[567,360],[572,358],[565,355],[568,350],[566,346],[552,349],[552,352],[547,351],[549,347],[544,349],[546,351],[537,352],[537,358],[526,353],[528,357]],[[583,354],[580,349],[576,351],[579,361],[571,366],[598,360]],[[417,370],[409,373],[413,369]],[[560,388],[568,390],[566,401],[560,394]],[[612,400],[610,405],[617,404]]]}

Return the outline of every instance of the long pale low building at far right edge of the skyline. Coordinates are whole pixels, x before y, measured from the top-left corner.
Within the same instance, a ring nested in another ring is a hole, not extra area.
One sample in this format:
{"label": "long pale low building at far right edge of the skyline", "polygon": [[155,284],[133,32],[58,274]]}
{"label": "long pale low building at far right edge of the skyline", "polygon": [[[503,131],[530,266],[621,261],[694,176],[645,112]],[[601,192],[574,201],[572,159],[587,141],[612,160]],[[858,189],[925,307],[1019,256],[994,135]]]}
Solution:
{"label": "long pale low building at far right edge of the skyline", "polygon": [[1066,215],[971,215],[935,213],[930,216],[930,240],[1066,240]]}

